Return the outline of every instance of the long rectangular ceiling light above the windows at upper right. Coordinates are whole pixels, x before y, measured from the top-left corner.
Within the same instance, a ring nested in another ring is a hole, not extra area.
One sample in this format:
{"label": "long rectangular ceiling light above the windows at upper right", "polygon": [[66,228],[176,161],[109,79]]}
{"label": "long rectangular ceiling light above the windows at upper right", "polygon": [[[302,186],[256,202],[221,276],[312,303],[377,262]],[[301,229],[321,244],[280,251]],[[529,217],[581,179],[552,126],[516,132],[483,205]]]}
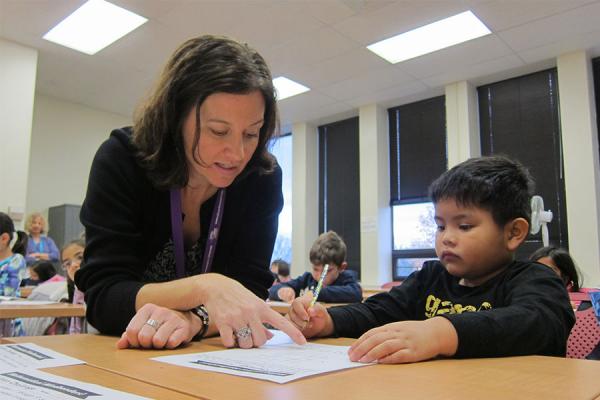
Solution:
{"label": "long rectangular ceiling light above the windows at upper right", "polygon": [[395,64],[490,33],[479,18],[465,11],[374,43],[367,49]]}

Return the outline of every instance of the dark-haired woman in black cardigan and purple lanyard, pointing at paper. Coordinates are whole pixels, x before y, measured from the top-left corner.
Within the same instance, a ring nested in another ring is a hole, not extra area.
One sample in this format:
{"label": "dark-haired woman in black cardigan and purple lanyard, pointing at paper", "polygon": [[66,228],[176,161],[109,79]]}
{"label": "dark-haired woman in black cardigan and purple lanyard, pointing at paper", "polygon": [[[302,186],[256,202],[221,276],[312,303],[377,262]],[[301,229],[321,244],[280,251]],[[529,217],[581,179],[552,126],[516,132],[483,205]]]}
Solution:
{"label": "dark-haired woman in black cardigan and purple lanyard, pointing at paper", "polygon": [[250,348],[271,336],[263,323],[305,342],[261,300],[283,204],[267,150],[276,125],[264,59],[202,36],[171,56],[133,128],[100,147],[75,282],[88,321],[121,334],[119,348],[173,348],[217,332],[227,347]]}

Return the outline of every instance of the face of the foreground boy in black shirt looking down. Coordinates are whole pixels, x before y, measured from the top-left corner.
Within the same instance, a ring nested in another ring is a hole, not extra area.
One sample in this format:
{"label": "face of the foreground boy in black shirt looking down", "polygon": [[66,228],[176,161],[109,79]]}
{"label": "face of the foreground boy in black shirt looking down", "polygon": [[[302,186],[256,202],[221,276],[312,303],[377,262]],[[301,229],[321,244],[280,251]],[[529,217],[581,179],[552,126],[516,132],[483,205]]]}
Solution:
{"label": "face of the foreground boy in black shirt looking down", "polygon": [[512,260],[509,228],[499,227],[487,210],[444,199],[435,204],[435,222],[435,252],[462,285],[478,286]]}

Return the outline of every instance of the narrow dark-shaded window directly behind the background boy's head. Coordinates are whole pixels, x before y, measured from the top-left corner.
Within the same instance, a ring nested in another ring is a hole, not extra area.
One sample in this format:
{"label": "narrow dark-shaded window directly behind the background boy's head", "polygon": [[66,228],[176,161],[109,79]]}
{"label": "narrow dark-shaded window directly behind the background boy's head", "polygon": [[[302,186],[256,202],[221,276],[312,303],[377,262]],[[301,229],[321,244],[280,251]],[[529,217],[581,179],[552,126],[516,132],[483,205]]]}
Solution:
{"label": "narrow dark-shaded window directly behind the background boy's head", "polygon": [[359,157],[357,117],[319,126],[319,232],[344,239],[360,279]]}

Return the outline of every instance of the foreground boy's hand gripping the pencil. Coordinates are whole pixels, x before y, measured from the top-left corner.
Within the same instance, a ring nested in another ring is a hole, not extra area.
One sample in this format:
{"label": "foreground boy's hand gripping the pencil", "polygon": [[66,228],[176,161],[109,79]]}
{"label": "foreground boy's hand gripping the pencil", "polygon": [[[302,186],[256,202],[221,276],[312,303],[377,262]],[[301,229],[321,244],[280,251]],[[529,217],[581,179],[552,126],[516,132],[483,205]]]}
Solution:
{"label": "foreground boy's hand gripping the pencil", "polygon": [[292,303],[287,318],[302,331],[304,337],[329,336],[333,333],[333,321],[322,304],[310,307],[313,294],[306,292]]}

